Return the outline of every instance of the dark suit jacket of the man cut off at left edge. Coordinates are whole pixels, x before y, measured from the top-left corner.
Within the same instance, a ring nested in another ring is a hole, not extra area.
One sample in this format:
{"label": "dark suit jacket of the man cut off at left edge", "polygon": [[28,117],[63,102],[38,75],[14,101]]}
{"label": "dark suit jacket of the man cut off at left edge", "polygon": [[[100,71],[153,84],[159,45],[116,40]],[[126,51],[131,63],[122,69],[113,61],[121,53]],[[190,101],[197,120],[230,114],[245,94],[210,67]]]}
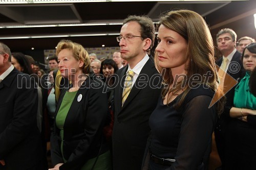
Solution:
{"label": "dark suit jacket of the man cut off at left edge", "polygon": [[[39,169],[41,141],[37,128],[37,89],[28,75],[13,69],[0,83],[0,169]],[[39,167],[34,167],[38,165]]]}

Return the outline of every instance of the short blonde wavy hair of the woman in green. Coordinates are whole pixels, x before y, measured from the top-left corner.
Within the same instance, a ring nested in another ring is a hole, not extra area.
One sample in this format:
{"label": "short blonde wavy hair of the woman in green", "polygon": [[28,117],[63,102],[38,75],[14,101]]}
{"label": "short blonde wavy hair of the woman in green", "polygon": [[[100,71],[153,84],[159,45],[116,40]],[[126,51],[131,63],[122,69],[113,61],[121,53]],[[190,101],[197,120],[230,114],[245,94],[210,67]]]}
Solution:
{"label": "short blonde wavy hair of the woman in green", "polygon": [[81,67],[84,74],[89,74],[90,72],[90,58],[88,52],[79,43],[72,42],[71,40],[60,40],[57,44],[56,55],[63,49],[70,49],[73,52],[73,57],[79,61],[83,61],[83,66]]}

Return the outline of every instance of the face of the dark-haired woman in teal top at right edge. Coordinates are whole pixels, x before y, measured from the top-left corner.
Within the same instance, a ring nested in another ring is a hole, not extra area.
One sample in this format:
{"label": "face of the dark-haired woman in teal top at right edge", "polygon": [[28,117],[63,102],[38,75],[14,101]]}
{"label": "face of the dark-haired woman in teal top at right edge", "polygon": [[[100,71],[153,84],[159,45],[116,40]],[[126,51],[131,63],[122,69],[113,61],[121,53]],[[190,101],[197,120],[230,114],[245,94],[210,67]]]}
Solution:
{"label": "face of the dark-haired woman in teal top at right edge", "polygon": [[249,52],[248,49],[244,51],[243,66],[246,71],[252,71],[256,66],[256,54]]}

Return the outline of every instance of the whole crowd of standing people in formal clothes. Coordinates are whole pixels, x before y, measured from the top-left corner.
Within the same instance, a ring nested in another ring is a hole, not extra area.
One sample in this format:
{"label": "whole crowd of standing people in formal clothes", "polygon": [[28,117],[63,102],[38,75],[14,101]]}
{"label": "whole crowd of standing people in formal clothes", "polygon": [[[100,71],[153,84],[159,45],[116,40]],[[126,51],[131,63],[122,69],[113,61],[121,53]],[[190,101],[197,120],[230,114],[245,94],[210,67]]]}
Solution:
{"label": "whole crowd of standing people in formal clothes", "polygon": [[104,60],[60,40],[48,74],[0,42],[0,169],[203,170],[212,134],[217,169],[255,169],[255,40],[220,30],[217,60],[190,10],[162,14],[157,32],[148,16],[125,18]]}

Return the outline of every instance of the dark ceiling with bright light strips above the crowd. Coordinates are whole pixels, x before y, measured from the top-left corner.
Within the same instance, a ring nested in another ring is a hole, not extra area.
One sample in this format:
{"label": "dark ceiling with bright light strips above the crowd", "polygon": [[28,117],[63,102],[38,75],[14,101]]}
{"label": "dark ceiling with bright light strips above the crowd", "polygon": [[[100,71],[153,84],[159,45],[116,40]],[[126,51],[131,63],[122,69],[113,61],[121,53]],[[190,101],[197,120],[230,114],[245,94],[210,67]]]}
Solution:
{"label": "dark ceiling with bright light strips above the crowd", "polygon": [[[32,0],[31,0],[32,1]],[[30,1],[30,2],[31,2]],[[253,14],[256,1],[179,1],[179,2],[101,2],[63,4],[4,4],[0,1],[0,41],[12,51],[54,49],[59,40],[71,39],[84,47],[118,46],[116,36],[121,23],[128,15],[148,15],[154,22],[165,11],[189,9],[204,16],[212,37],[222,28],[231,28],[238,38],[256,38]],[[25,25],[61,25],[68,23],[99,24],[99,26],[6,28]],[[107,25],[102,25],[107,23]],[[79,36],[78,34],[83,34]],[[84,36],[84,34],[115,34]],[[56,38],[12,38],[20,36],[53,36]],[[70,35],[75,35],[70,36]]]}

